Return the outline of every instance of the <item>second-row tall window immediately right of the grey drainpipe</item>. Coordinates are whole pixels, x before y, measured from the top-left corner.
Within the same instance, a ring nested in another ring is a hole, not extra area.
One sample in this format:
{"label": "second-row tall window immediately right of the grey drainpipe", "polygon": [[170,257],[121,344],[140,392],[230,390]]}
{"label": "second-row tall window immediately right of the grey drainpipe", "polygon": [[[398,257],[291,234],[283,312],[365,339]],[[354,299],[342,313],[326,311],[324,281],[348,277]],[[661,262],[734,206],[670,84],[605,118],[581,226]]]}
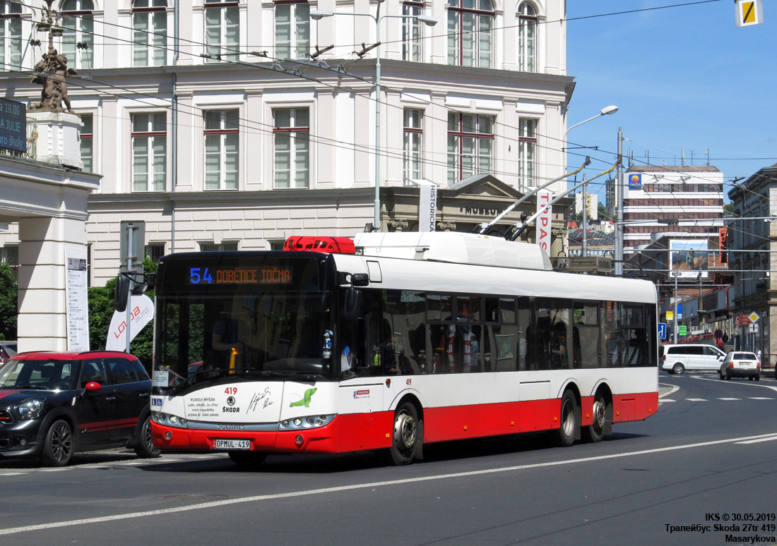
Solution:
{"label": "second-row tall window immediately right of the grey drainpipe", "polygon": [[205,189],[237,189],[240,126],[237,110],[205,112]]}

